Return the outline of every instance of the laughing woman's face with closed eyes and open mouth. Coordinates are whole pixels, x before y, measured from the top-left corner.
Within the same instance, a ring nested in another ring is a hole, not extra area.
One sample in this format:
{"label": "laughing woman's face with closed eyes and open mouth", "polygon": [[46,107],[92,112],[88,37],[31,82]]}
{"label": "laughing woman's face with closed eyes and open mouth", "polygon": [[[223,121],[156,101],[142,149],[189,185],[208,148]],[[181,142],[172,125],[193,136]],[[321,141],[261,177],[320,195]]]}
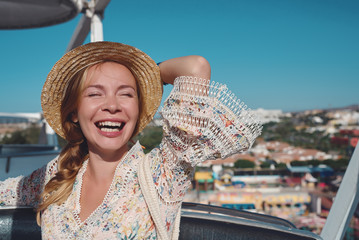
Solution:
{"label": "laughing woman's face with closed eyes and open mouth", "polygon": [[90,153],[122,156],[127,151],[138,101],[136,80],[128,68],[114,62],[89,68],[73,121],[79,122]]}

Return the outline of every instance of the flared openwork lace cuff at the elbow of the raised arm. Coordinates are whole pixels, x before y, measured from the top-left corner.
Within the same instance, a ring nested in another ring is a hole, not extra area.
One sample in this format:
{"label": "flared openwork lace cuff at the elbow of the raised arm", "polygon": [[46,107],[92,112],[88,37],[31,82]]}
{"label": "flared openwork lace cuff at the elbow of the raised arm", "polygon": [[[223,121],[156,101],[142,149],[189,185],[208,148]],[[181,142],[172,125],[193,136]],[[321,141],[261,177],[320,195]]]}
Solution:
{"label": "flared openwork lace cuff at the elbow of the raised arm", "polygon": [[226,85],[194,77],[175,80],[161,115],[169,158],[192,167],[248,150],[262,130]]}

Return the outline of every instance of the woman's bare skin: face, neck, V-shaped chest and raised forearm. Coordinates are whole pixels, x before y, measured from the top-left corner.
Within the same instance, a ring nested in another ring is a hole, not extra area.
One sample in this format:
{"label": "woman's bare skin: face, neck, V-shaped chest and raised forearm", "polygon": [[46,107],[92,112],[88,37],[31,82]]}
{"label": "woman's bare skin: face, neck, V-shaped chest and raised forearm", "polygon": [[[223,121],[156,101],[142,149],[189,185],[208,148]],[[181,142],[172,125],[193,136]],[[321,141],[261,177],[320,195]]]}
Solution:
{"label": "woman's bare skin: face, neck, V-shaped chest and raised forearm", "polygon": [[[178,76],[210,79],[211,75],[209,63],[200,56],[170,59],[159,67],[162,80],[169,84]],[[77,114],[73,117],[74,122],[80,123],[89,147],[89,163],[80,198],[82,222],[102,203],[118,163],[129,150],[127,143],[134,131],[138,111],[135,79],[126,67],[104,63],[89,69]],[[120,127],[116,130],[99,127],[99,123],[108,125],[109,122]]]}

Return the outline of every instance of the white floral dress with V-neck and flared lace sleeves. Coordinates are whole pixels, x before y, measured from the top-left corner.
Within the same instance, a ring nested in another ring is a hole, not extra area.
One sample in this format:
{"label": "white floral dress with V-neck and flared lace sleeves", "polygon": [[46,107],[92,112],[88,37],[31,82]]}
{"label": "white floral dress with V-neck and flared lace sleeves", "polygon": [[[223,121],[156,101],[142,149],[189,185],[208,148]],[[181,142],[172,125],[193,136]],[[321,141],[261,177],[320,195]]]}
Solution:
{"label": "white floral dress with V-neck and flared lace sleeves", "polygon": [[[179,77],[161,110],[163,139],[145,155],[137,142],[118,164],[103,202],[81,221],[82,177],[61,205],[43,211],[43,239],[157,239],[158,233],[144,197],[138,168],[145,158],[155,186],[160,219],[168,237],[181,202],[191,184],[194,166],[207,159],[225,158],[251,147],[261,132],[250,109],[225,85],[193,77]],[[0,205],[36,207],[45,184],[57,172],[57,158],[30,176],[0,182]]]}

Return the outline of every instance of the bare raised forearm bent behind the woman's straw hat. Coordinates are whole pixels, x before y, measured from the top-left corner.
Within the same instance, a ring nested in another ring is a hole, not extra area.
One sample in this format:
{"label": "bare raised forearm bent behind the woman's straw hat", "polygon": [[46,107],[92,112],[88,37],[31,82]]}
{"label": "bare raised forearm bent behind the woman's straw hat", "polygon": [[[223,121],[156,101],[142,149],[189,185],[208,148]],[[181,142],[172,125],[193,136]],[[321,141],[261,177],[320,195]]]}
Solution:
{"label": "bare raised forearm bent behind the woman's straw hat", "polygon": [[211,78],[209,62],[197,55],[172,58],[160,63],[159,67],[164,83],[173,84],[175,78],[179,76],[193,76],[208,80]]}

